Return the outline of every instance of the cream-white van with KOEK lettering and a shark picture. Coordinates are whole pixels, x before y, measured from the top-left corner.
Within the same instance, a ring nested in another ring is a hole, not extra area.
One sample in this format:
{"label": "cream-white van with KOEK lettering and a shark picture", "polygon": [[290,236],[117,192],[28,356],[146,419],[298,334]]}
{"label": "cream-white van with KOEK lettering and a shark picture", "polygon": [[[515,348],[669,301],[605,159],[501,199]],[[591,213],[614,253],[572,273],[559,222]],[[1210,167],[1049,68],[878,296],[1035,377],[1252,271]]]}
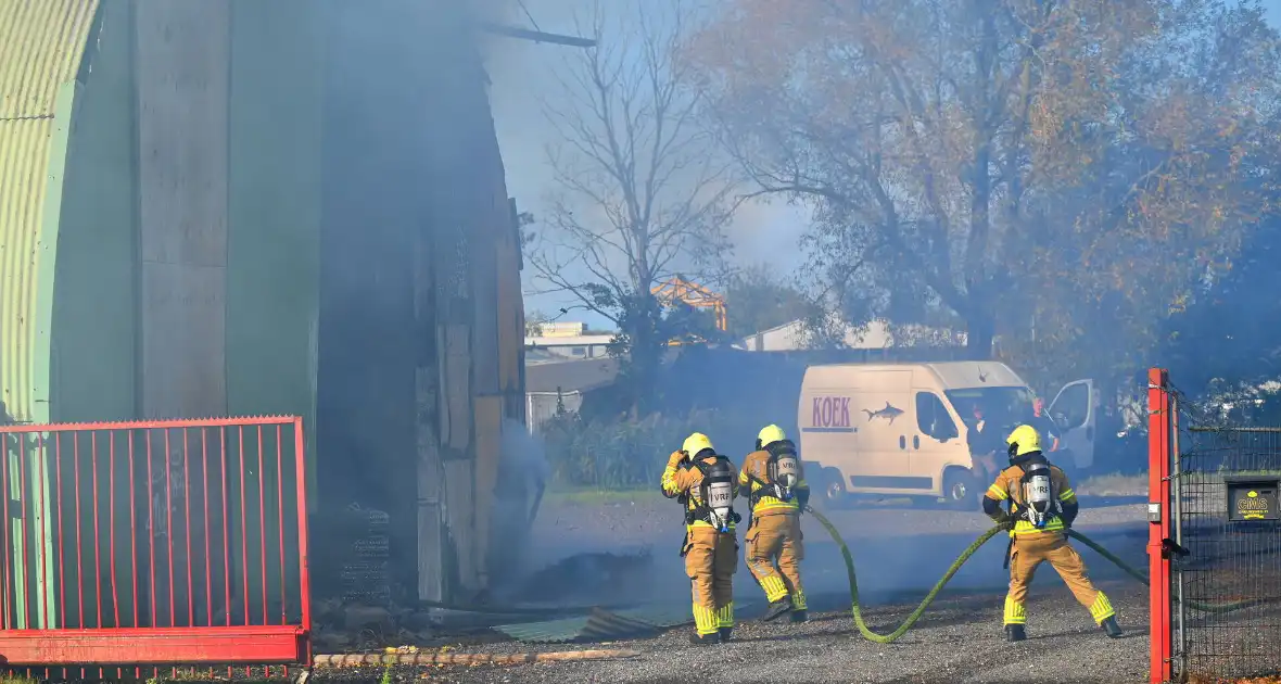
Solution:
{"label": "cream-white van with KOEK lettering and a shark picture", "polygon": [[[890,494],[976,505],[1007,464],[1006,436],[1031,419],[1032,400],[997,361],[810,366],[797,416],[806,479],[829,503]],[[1049,414],[1059,437],[1057,452],[1045,444],[1050,461],[1070,475],[1090,468],[1093,382],[1065,386]]]}

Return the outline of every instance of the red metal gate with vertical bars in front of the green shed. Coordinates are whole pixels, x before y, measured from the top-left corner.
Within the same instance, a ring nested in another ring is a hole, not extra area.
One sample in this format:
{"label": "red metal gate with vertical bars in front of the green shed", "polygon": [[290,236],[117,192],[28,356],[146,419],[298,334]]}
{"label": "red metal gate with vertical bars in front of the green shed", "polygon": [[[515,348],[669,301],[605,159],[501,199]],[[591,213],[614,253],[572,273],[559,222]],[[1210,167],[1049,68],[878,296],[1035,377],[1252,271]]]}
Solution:
{"label": "red metal gate with vertical bars in front of the green shed", "polygon": [[0,664],[310,661],[302,419],[0,427]]}

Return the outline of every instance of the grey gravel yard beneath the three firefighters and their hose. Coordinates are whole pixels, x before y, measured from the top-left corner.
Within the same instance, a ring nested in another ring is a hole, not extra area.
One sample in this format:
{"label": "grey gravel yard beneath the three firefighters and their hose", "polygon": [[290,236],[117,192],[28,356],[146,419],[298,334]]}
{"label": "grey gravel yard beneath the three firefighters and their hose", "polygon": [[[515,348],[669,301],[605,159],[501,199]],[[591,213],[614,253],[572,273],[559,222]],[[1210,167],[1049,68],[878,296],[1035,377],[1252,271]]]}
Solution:
{"label": "grey gravel yard beneath the three firefighters and their hose", "polygon": [[[990,521],[977,511],[948,511],[921,505],[862,505],[831,511],[829,517],[849,543],[858,567],[866,617],[885,633],[897,626],[953,558]],[[1081,532],[1104,543],[1131,564],[1143,566],[1144,506],[1134,500],[1082,501]],[[587,648],[634,649],[634,658],[474,667],[393,667],[396,681],[452,683],[610,681],[688,683],[693,678],[721,681],[1144,681],[1146,676],[1146,589],[1126,579],[1090,551],[1082,551],[1091,576],[1108,592],[1127,634],[1107,639],[1094,628],[1048,567],[1038,574],[1029,610],[1029,640],[1009,644],[1000,628],[1007,571],[1004,543],[986,544],[957,574],[917,626],[893,644],[862,639],[848,612],[848,585],[839,548],[812,519],[803,524],[803,573],[811,597],[811,621],[765,624],[739,615],[734,643],[688,644],[692,628],[669,630],[652,639],[610,644],[524,644],[500,642],[460,646],[453,652],[529,653]],[[543,567],[573,553],[648,548],[635,573],[600,585],[596,578],[565,576],[561,587],[543,587],[565,603],[594,599],[688,601],[688,579],[676,556],[681,537],[678,511],[658,496],[596,502],[551,501],[529,539],[532,567]],[[761,603],[760,589],[739,567],[734,582],[739,603]],[[519,597],[514,597],[519,598]],[[753,612],[758,612],[757,607]],[[747,612],[740,611],[740,612]],[[313,679],[378,681],[380,667],[318,670]]]}

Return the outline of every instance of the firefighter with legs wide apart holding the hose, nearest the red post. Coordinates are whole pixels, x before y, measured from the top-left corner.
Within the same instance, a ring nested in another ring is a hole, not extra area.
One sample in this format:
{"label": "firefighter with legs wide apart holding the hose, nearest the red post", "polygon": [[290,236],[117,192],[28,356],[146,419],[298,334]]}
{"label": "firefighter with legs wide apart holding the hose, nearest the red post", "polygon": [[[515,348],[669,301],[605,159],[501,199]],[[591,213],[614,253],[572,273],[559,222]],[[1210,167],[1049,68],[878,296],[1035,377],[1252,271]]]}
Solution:
{"label": "firefighter with legs wide apart holding the hose, nearest the red post", "polygon": [[[1036,567],[1045,561],[1090,611],[1090,617],[1104,634],[1121,637],[1112,602],[1094,587],[1081,555],[1067,543],[1067,529],[1080,510],[1067,475],[1041,453],[1036,428],[1020,425],[1009,433],[1006,443],[1009,468],[997,475],[983,497],[983,511],[1009,530],[1006,637],[1011,642],[1027,638],[1024,626],[1027,623],[1027,585]],[[1002,507],[1003,502],[1009,503],[1008,510]]]}

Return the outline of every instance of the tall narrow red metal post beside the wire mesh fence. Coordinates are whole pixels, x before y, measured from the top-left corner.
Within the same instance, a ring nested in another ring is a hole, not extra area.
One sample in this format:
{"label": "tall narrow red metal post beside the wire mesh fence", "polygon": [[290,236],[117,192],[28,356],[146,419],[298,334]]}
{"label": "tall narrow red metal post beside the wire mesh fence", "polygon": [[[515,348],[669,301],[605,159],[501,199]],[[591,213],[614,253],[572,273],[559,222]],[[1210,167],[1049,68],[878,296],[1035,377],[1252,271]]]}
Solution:
{"label": "tall narrow red metal post beside the wire mesh fence", "polygon": [[1162,542],[1170,538],[1170,374],[1148,371],[1148,620],[1150,635],[1149,681],[1171,679],[1173,662],[1170,629],[1170,558]]}

